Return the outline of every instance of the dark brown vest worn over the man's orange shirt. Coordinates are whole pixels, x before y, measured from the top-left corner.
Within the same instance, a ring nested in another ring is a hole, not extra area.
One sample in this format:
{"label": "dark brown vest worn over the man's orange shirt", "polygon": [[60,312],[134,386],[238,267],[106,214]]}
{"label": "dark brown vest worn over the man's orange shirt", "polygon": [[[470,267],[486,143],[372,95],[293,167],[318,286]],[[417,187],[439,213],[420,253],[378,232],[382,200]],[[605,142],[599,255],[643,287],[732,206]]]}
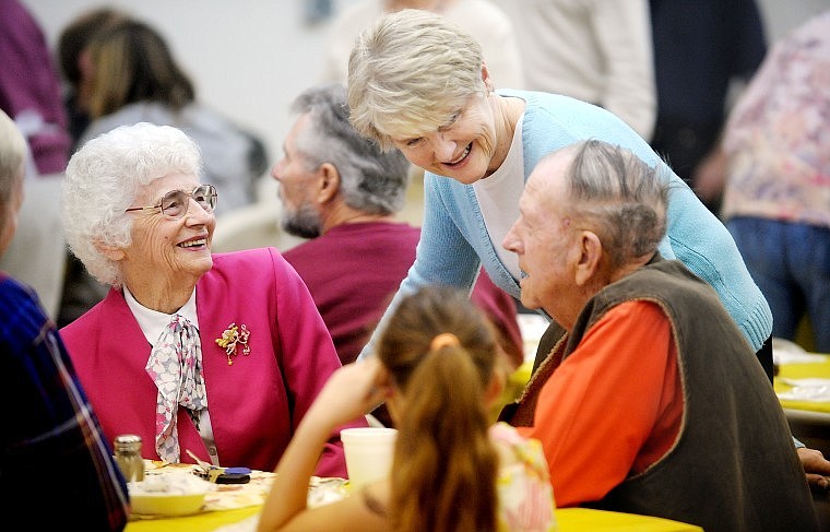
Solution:
{"label": "dark brown vest worn over the man's orange shirt", "polygon": [[655,258],[603,288],[570,335],[553,324],[540,342],[548,356],[501,418],[533,424],[538,392],[561,360],[605,312],[631,300],[659,305],[672,322],[683,424],[665,457],[591,506],[693,523],[707,532],[818,530],[804,470],[763,369],[714,289],[679,261]]}

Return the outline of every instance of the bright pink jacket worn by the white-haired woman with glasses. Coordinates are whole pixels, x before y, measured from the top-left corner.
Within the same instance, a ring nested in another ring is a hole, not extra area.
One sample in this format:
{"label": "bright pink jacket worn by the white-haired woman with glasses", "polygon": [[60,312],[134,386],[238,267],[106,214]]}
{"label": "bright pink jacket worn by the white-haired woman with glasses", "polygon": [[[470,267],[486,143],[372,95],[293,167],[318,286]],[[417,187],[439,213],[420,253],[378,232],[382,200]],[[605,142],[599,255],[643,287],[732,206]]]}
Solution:
{"label": "bright pink jacket worn by the white-haired woman with glasses", "polygon": [[[273,248],[214,255],[213,268],[197,283],[197,314],[220,462],[272,471],[300,418],[340,366],[331,336],[306,285]],[[234,357],[233,365],[215,342],[230,323],[250,331],[250,354]],[[137,434],[144,441],[144,458],[158,460],[157,390],[144,370],[151,347],[123,293],[111,289],[60,332],[110,442],[119,434]],[[177,423],[181,461],[192,462],[186,449],[209,460],[183,409]],[[346,476],[336,431],[317,474]]]}

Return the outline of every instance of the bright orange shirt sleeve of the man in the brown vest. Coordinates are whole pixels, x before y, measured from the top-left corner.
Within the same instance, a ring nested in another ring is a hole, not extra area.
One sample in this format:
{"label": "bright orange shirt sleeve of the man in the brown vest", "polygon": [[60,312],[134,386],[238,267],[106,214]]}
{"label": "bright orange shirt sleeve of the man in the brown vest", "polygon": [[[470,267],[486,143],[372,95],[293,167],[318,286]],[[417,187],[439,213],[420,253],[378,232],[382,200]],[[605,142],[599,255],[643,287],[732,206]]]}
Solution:
{"label": "bright orange shirt sleeve of the man in the brown vest", "polygon": [[610,309],[550,376],[533,427],[558,507],[598,500],[671,449],[683,419],[677,347],[649,302]]}

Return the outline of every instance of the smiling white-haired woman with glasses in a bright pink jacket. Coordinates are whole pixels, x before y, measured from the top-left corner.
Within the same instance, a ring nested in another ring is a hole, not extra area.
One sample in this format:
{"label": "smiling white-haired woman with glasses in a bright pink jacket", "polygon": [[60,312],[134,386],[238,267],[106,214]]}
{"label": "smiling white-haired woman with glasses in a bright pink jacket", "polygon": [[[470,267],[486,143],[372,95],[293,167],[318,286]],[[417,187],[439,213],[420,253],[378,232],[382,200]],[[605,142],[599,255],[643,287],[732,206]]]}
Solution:
{"label": "smiling white-haired woman with glasses in a bright pink jacket", "polygon": [[[61,214],[106,298],[61,333],[105,433],[144,458],[273,470],[340,366],[305,284],[273,248],[211,253],[216,190],[183,132],[138,123],[70,159]],[[356,419],[353,425],[365,425]],[[345,476],[339,433],[317,468]]]}

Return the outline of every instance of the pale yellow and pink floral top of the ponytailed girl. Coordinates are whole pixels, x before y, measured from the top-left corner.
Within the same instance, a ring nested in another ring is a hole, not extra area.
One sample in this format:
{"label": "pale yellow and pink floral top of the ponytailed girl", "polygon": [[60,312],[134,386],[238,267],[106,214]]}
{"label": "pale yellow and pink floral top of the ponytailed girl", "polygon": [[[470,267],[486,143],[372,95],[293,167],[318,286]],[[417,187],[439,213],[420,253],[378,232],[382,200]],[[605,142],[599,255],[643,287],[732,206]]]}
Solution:
{"label": "pale yellow and pink floral top of the ponytailed girl", "polygon": [[556,531],[556,504],[542,444],[520,436],[514,427],[501,422],[490,427],[490,438],[517,459],[499,470],[498,530]]}

